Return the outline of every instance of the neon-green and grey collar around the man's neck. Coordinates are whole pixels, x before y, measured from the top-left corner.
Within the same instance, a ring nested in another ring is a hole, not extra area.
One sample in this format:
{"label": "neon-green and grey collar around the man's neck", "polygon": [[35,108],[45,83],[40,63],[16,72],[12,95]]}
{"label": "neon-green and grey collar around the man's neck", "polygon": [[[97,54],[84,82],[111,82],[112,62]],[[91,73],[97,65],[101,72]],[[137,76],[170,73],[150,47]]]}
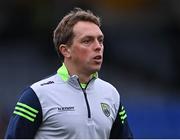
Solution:
{"label": "neon-green and grey collar around the man's neck", "polygon": [[[77,75],[72,75],[70,76],[69,73],[68,73],[68,70],[65,66],[65,64],[63,63],[62,66],[57,70],[57,74],[61,77],[61,79],[64,81],[64,82],[68,82],[70,85],[72,85],[73,87],[75,88],[85,88],[87,86],[86,83],[80,83],[81,84],[81,87],[79,85],[79,82],[78,82],[78,79],[79,77]],[[93,79],[96,79],[98,78],[98,72],[95,72],[94,74],[91,75],[91,81]]]}

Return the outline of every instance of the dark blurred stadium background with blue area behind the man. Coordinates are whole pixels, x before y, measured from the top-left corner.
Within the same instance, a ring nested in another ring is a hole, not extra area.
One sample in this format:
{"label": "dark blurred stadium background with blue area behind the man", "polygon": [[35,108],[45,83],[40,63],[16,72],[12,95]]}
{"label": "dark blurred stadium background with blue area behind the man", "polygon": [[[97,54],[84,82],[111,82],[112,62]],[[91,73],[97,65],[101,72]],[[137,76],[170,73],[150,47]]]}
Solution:
{"label": "dark blurred stadium background with blue area behind the man", "polygon": [[20,92],[60,66],[52,33],[73,7],[102,17],[100,77],[121,93],[135,138],[180,138],[179,0],[1,0],[0,138]]}

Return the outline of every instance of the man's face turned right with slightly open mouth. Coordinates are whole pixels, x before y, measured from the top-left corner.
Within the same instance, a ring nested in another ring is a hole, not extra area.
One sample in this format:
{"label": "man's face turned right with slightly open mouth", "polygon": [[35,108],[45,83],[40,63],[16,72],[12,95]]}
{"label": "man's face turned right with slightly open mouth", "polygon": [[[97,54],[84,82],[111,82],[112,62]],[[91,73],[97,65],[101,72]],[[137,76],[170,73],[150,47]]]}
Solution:
{"label": "man's face turned right with slightly open mouth", "polygon": [[92,74],[99,71],[103,61],[103,33],[91,22],[80,21],[73,28],[74,39],[70,46],[72,64],[79,72]]}

